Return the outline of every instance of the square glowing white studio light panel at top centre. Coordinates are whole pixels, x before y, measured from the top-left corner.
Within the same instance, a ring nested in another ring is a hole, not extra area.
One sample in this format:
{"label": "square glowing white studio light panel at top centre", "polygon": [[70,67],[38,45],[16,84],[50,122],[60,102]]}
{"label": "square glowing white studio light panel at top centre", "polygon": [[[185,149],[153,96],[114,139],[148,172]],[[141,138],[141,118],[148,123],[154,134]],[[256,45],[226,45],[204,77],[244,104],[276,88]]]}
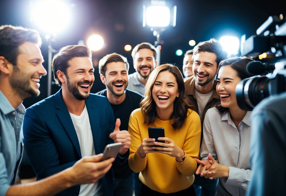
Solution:
{"label": "square glowing white studio light panel at top centre", "polygon": [[146,23],[150,27],[168,26],[170,24],[170,9],[165,6],[147,7]]}

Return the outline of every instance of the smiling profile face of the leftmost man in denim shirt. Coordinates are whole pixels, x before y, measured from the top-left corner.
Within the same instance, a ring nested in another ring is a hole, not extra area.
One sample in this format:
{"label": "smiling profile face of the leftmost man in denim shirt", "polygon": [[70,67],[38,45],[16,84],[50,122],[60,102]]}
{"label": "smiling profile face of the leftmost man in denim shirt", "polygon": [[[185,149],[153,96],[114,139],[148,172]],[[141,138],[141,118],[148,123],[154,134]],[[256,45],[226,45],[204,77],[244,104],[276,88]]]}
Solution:
{"label": "smiling profile face of the leftmost man in denim shirt", "polygon": [[22,99],[40,94],[40,78],[47,74],[42,63],[43,56],[37,44],[26,41],[19,46],[17,65],[13,66],[9,81]]}

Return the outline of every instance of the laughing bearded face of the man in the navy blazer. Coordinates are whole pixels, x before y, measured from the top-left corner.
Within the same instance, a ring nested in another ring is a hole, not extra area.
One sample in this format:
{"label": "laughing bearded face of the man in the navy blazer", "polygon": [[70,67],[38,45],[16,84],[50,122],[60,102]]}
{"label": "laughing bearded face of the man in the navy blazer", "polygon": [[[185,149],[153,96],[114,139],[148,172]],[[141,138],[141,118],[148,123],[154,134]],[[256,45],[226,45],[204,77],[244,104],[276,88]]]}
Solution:
{"label": "laughing bearded face of the man in the navy blazer", "polygon": [[88,57],[74,57],[68,62],[67,89],[76,99],[84,100],[90,96],[94,82],[94,68]]}

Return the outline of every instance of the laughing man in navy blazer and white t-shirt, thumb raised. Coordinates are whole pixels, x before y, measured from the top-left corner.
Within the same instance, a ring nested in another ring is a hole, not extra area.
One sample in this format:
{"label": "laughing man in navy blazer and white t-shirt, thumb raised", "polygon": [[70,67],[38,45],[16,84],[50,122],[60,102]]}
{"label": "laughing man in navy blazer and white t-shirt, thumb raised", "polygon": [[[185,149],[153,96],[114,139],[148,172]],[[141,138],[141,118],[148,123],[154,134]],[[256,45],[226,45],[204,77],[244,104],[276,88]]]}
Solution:
{"label": "laughing man in navy blazer and white t-shirt, thumb raised", "polygon": [[[130,134],[119,131],[106,97],[90,94],[94,82],[91,51],[66,46],[52,62],[61,89],[27,109],[23,121],[24,144],[37,179],[58,173],[84,156],[102,153],[107,144],[122,142],[114,165],[129,155]],[[115,127],[115,129],[114,129]],[[97,183],[76,185],[59,195],[112,195],[112,170]]]}

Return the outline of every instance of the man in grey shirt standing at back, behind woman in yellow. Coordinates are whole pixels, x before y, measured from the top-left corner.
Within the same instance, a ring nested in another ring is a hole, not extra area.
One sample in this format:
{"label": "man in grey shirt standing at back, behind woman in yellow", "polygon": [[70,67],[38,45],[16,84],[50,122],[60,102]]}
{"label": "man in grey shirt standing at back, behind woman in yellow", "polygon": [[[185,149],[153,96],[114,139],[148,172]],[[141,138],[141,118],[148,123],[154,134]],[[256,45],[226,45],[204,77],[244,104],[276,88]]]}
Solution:
{"label": "man in grey shirt standing at back, behind woman in yellow", "polygon": [[134,47],[131,55],[136,72],[128,75],[127,89],[144,95],[147,77],[157,67],[156,49],[152,44],[143,42]]}

